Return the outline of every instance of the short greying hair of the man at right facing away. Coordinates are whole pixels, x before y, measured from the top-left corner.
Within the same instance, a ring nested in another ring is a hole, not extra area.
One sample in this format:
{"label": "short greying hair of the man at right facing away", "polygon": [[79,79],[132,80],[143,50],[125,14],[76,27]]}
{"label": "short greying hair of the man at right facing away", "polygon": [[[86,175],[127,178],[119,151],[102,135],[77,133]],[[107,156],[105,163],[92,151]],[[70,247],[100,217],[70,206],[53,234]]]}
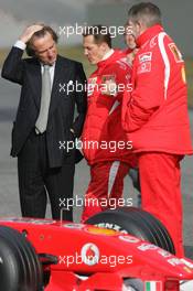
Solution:
{"label": "short greying hair of the man at right facing away", "polygon": [[142,20],[147,28],[161,24],[161,11],[151,2],[141,2],[132,6],[128,11],[128,17],[133,23]]}

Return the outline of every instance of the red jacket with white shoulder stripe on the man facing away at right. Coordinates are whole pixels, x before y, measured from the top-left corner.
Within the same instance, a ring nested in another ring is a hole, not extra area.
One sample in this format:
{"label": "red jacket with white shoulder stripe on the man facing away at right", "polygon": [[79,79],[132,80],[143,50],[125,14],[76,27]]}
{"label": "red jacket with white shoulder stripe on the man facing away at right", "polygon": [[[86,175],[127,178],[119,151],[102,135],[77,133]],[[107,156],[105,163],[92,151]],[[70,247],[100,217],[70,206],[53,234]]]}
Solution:
{"label": "red jacket with white shoulder stripe on the man facing away at right", "polygon": [[133,89],[122,101],[122,126],[133,150],[192,154],[182,55],[161,25],[148,29],[137,44]]}

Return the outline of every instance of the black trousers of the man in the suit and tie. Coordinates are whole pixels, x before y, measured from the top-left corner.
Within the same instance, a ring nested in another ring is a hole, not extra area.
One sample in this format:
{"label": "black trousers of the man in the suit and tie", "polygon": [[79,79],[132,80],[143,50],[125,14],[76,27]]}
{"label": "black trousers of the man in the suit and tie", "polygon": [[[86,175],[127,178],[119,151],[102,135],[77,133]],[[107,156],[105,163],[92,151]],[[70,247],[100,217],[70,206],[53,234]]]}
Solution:
{"label": "black trousers of the man in the suit and tie", "polygon": [[73,209],[66,208],[73,198],[75,153],[64,159],[61,168],[50,168],[46,133],[32,132],[18,157],[18,176],[22,216],[44,218],[47,194],[53,219],[73,220]]}

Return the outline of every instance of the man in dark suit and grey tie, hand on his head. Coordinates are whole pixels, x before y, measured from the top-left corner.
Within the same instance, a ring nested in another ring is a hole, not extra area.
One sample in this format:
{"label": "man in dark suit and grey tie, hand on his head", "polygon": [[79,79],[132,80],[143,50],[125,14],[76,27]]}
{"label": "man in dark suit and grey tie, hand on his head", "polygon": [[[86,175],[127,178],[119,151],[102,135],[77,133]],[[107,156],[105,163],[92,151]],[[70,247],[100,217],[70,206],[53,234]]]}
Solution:
{"label": "man in dark suit and grey tie, hand on his head", "polygon": [[[21,85],[11,155],[18,157],[22,215],[43,218],[47,192],[54,219],[73,197],[75,138],[82,133],[86,114],[83,66],[60,56],[56,42],[50,26],[31,25],[2,68],[3,78]],[[25,48],[32,57],[22,60]],[[72,209],[64,211],[63,218],[72,220]]]}

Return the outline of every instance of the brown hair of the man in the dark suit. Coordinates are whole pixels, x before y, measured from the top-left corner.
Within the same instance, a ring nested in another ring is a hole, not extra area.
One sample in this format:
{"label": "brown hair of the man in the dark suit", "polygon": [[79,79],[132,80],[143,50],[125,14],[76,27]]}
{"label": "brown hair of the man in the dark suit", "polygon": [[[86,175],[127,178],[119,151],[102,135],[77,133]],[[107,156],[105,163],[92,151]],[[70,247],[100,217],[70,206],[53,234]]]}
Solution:
{"label": "brown hair of the man in the dark suit", "polygon": [[56,34],[56,32],[51,28],[51,26],[47,26],[47,25],[43,25],[42,30],[40,31],[36,31],[32,37],[30,39],[30,41],[26,43],[26,54],[29,56],[34,56],[35,55],[35,51],[33,48],[33,41],[35,37],[37,39],[41,39],[43,37],[46,33],[50,33],[52,35],[52,39],[55,43],[57,43],[58,41],[58,36]]}

